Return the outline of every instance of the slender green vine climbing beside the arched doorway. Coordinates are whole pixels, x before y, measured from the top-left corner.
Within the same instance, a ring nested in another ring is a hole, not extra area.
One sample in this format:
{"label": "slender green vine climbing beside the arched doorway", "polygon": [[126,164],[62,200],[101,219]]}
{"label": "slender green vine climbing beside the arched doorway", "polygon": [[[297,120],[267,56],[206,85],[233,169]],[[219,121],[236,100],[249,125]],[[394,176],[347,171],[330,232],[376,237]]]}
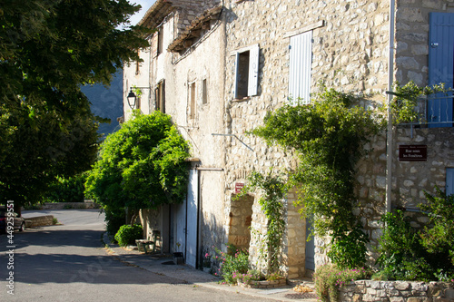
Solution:
{"label": "slender green vine climbing beside the arched doorway", "polygon": [[259,258],[268,263],[267,270],[269,273],[275,273],[279,270],[281,264],[281,243],[285,230],[282,200],[287,190],[284,181],[280,177],[272,176],[271,172],[268,175],[262,175],[258,171],[252,171],[248,176],[246,186],[237,198],[241,198],[248,191],[254,190],[262,191],[262,197],[258,202],[268,219],[267,232],[264,236],[255,230],[255,236],[263,236],[263,240],[259,240],[262,243]]}

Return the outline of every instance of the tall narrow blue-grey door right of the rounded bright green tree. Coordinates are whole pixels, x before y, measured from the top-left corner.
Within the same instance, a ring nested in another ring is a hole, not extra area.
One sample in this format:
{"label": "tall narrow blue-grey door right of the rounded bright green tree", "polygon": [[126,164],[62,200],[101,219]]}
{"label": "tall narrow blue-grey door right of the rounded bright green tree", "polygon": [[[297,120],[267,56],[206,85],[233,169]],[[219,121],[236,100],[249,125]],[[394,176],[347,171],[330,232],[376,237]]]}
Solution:
{"label": "tall narrow blue-grey door right of the rounded bright green tree", "polygon": [[197,266],[197,234],[199,229],[198,189],[198,172],[197,170],[189,170],[186,220],[186,264],[192,268]]}

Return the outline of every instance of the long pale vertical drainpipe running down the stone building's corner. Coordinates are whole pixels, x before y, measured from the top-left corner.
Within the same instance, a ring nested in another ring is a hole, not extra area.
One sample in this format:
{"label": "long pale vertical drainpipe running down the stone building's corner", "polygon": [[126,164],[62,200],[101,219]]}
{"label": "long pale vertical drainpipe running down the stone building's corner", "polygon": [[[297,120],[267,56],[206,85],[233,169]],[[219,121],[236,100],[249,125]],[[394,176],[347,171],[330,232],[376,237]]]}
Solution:
{"label": "long pale vertical drainpipe running down the stone building's corner", "polygon": [[[392,83],[394,82],[394,19],[395,19],[395,0],[390,0],[390,56],[388,58],[388,91],[392,92]],[[388,131],[386,137],[386,212],[391,211],[391,190],[392,190],[392,156],[393,138],[392,138],[392,116],[390,104],[392,94],[388,93]]]}

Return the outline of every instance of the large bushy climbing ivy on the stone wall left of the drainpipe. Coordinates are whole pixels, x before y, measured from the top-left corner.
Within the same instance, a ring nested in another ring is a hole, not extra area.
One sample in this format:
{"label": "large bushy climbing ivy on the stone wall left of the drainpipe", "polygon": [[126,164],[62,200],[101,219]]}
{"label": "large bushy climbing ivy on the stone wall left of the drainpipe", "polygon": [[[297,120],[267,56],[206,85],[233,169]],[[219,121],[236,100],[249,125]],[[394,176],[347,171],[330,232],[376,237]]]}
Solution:
{"label": "large bushy climbing ivy on the stone wall left of the drainpipe", "polygon": [[[264,125],[252,130],[268,144],[295,151],[298,167],[289,171],[285,190],[297,188],[301,214],[313,218],[315,232],[331,235],[331,260],[342,268],[365,262],[367,236],[358,233],[354,194],[355,167],[364,146],[385,128],[383,111],[353,106],[351,94],[323,88],[309,105],[285,105],[270,112]],[[355,245],[345,248],[345,240]]]}

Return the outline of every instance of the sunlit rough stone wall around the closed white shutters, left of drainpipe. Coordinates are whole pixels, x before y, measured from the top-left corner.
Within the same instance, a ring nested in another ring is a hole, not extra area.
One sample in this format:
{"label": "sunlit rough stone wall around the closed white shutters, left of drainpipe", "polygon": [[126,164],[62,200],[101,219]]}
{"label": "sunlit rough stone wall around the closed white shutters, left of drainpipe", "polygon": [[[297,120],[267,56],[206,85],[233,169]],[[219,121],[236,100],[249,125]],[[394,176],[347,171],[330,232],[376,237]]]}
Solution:
{"label": "sunlit rough stone wall around the closed white shutters, left of drainpipe", "polygon": [[[371,101],[383,102],[387,85],[387,45],[389,4],[380,1],[245,1],[236,4],[226,2],[227,54],[225,72],[224,122],[228,133],[236,134],[253,151],[236,140],[228,141],[226,154],[227,196],[234,190],[235,182],[245,181],[251,170],[268,172],[294,168],[295,162],[288,151],[278,147],[267,147],[265,143],[244,132],[262,124],[266,112],[288,102],[289,96],[289,34],[313,28],[311,91],[318,91],[318,84],[324,83],[343,92],[372,93]],[[321,25],[320,25],[321,24]],[[238,101],[234,100],[235,51],[242,47],[260,45],[258,94]],[[375,94],[373,94],[375,93]],[[382,93],[380,95],[380,93]],[[371,102],[364,102],[370,105]],[[370,226],[371,235],[376,231],[374,221],[380,218],[384,209],[384,181],[386,144],[382,137],[373,142],[375,151],[360,165],[361,201],[370,204],[357,214],[363,216],[363,224]],[[229,204],[229,197],[227,198]],[[289,205],[289,207],[292,207]],[[291,208],[289,208],[291,209]],[[259,208],[254,215],[260,217]],[[291,213],[291,210],[290,212]],[[367,215],[366,215],[367,214]],[[293,221],[293,219],[289,219]],[[289,224],[291,229],[301,229],[300,220]],[[252,219],[253,222],[253,219]],[[254,223],[252,223],[254,226]],[[373,234],[377,236],[378,234]],[[300,241],[305,233],[298,232],[288,241],[286,252],[302,248]],[[319,243],[323,241],[319,240]],[[324,242],[324,241],[323,241]],[[300,246],[301,245],[301,246]],[[251,254],[256,252],[252,245]],[[317,248],[316,262],[326,261],[326,255]],[[296,254],[295,254],[296,255]],[[290,256],[287,256],[290,257]],[[300,253],[303,257],[303,252]],[[290,259],[290,258],[289,258]],[[301,261],[294,263],[301,266]],[[296,267],[295,267],[296,268]],[[295,269],[291,268],[291,269]],[[304,268],[299,271],[303,274]],[[293,273],[292,273],[293,274]]]}

